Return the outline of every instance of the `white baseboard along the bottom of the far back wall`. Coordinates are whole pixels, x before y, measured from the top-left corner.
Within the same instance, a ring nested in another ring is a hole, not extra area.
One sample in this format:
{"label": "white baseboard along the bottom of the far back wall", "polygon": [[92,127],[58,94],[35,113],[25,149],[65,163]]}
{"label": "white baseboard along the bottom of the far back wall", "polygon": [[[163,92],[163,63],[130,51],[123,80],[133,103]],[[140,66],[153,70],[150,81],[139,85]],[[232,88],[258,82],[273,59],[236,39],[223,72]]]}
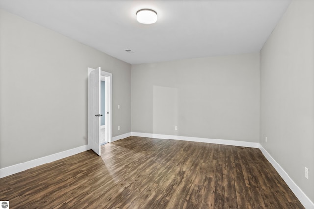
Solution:
{"label": "white baseboard along the bottom of the far back wall", "polygon": [[209,138],[200,138],[200,137],[184,137],[184,136],[176,136],[176,135],[149,134],[149,133],[139,133],[139,132],[131,132],[131,135],[136,136],[136,137],[173,139],[173,140],[182,140],[182,141],[194,141],[194,142],[203,142],[203,143],[212,143],[212,144],[224,144],[224,145],[232,145],[232,146],[259,148],[259,143],[247,142],[247,141],[209,139]]}

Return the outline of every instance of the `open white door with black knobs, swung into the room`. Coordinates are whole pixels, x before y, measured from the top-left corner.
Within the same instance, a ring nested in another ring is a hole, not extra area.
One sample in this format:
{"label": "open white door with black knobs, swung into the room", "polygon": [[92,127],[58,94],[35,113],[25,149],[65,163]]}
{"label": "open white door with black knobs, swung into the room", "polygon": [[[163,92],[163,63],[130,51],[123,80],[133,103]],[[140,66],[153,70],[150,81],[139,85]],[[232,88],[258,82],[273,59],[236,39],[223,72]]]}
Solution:
{"label": "open white door with black knobs, swung into the room", "polygon": [[88,68],[88,146],[100,155],[100,67]]}

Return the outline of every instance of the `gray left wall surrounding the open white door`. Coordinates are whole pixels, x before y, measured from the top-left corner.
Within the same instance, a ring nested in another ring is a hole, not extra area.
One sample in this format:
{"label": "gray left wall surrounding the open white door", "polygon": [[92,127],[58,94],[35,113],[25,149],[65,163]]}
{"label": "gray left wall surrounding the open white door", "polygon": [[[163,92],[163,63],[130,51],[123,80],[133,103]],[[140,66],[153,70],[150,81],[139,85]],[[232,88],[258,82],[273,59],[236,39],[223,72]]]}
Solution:
{"label": "gray left wall surrounding the open white door", "polygon": [[88,67],[113,74],[113,136],[131,131],[130,64],[3,10],[0,25],[0,168],[87,144]]}

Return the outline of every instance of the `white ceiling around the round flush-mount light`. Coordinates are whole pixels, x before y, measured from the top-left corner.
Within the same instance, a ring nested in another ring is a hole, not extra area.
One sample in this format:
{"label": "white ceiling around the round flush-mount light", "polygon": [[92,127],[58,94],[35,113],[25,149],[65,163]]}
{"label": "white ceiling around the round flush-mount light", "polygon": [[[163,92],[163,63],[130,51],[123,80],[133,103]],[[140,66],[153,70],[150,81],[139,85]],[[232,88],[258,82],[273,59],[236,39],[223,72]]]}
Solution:
{"label": "white ceiling around the round flush-mount light", "polygon": [[[291,0],[0,0],[0,8],[130,64],[258,52]],[[157,22],[136,21],[143,8]],[[131,49],[135,53],[127,53]]]}

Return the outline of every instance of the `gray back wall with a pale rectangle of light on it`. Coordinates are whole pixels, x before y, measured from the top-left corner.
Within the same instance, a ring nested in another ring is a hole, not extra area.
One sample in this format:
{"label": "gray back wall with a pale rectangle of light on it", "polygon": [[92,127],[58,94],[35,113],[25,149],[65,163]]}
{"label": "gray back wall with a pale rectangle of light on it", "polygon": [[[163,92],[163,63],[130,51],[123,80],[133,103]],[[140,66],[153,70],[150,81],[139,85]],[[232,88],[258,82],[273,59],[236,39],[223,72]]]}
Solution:
{"label": "gray back wall with a pale rectangle of light on it", "polygon": [[258,142],[259,73],[259,53],[132,65],[132,131]]}

